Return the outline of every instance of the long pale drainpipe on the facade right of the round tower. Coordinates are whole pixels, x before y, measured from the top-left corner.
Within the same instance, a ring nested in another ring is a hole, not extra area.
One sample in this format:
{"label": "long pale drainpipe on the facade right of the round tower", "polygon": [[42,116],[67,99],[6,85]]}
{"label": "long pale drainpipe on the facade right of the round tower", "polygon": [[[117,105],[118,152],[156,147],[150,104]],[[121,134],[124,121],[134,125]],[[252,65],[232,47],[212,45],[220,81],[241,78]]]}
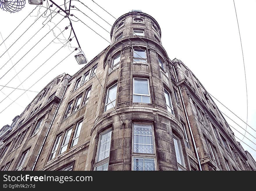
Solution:
{"label": "long pale drainpipe on the facade right of the round tower", "polygon": [[[173,67],[173,71],[174,71],[174,74],[175,74],[176,82],[178,82],[176,70],[175,70],[174,66],[172,66],[172,67]],[[187,110],[186,110],[186,107],[185,107],[185,103],[184,103],[184,99],[183,99],[183,96],[182,96],[181,88],[180,88],[179,85],[178,85],[178,88],[179,88],[179,95],[181,97],[182,105],[183,105],[183,108],[184,108],[184,113],[186,115],[186,119],[187,119],[187,122],[188,122],[188,125],[189,125],[189,132],[191,134],[191,138],[192,138],[192,142],[193,142],[193,147],[194,147],[195,155],[196,155],[197,162],[198,162],[198,167],[199,167],[199,170],[202,171],[200,159],[199,159],[199,156],[198,156],[198,151],[197,151],[196,145],[195,145],[194,135],[193,135],[193,132],[192,132],[192,129],[191,129],[191,126],[190,126],[189,117],[188,117],[188,114],[187,114]]]}

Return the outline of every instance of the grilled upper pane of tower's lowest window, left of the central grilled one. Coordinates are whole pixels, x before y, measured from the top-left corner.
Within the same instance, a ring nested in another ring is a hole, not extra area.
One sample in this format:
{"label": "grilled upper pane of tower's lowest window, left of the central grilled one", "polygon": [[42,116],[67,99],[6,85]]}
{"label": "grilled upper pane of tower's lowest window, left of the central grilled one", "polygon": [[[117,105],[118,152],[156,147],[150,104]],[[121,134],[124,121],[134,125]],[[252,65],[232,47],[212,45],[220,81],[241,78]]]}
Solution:
{"label": "grilled upper pane of tower's lowest window, left of the central grilled one", "polygon": [[111,133],[109,129],[99,135],[97,162],[109,157]]}

